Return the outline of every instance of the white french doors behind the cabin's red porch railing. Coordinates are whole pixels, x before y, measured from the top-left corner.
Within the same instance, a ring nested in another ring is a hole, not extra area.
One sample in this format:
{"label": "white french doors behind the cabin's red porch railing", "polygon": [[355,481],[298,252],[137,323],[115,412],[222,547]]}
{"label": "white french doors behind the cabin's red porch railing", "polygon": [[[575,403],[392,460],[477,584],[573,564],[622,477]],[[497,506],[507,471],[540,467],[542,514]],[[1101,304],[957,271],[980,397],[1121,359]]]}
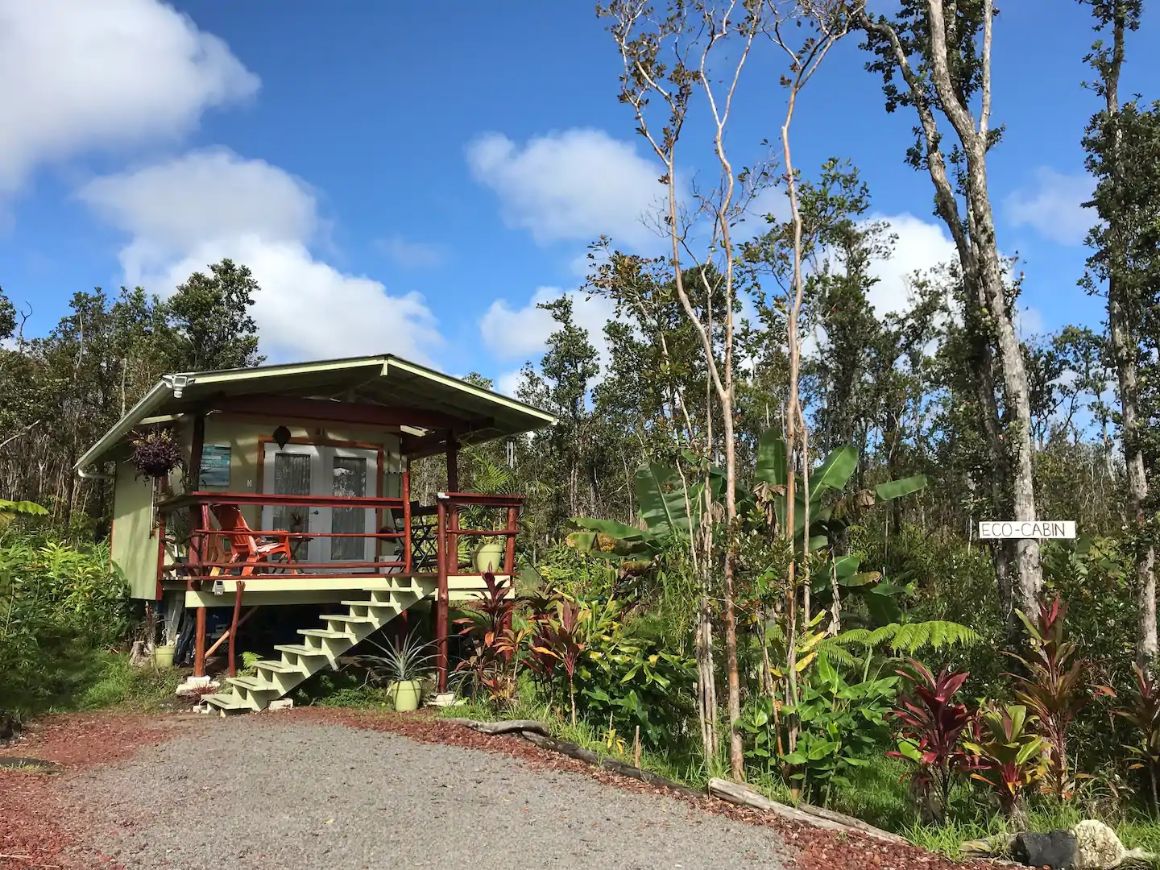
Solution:
{"label": "white french doors behind the cabin's red porch railing", "polygon": [[[325,444],[266,444],[262,456],[262,491],[276,495],[376,494],[378,451]],[[375,510],[367,508],[275,507],[262,509],[263,529],[313,534],[374,534]],[[318,537],[295,546],[298,561],[374,561],[375,538]],[[324,568],[318,568],[322,571]]]}

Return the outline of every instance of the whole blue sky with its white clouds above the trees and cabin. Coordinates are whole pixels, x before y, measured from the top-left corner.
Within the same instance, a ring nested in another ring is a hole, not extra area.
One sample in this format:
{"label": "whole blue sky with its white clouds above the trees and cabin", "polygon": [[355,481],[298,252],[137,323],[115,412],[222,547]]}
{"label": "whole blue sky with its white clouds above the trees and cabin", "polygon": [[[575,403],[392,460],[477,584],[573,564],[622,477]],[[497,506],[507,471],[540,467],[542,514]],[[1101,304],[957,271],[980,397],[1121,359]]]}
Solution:
{"label": "whole blue sky with its white clouds above the trees and cabin", "polygon": [[[1100,300],[1075,287],[1089,16],[1068,0],[1001,8],[991,182],[1000,246],[1027,273],[1023,325],[1095,324]],[[1155,95],[1158,27],[1153,12],[1132,38],[1125,93]],[[863,63],[849,39],[811,84],[797,161],[863,171],[899,234],[880,266],[891,309],[902,276],[951,248],[902,164],[912,119],[884,113]],[[749,71],[742,162],[776,136],[771,68]],[[397,351],[510,385],[546,334],[535,300],[579,287],[589,240],[657,247],[638,216],[658,172],[616,73],[589,2],[0,0],[0,284],[36,335],[75,290],[165,293],[232,255],[262,282],[273,358]],[[580,303],[592,328],[607,313]]]}

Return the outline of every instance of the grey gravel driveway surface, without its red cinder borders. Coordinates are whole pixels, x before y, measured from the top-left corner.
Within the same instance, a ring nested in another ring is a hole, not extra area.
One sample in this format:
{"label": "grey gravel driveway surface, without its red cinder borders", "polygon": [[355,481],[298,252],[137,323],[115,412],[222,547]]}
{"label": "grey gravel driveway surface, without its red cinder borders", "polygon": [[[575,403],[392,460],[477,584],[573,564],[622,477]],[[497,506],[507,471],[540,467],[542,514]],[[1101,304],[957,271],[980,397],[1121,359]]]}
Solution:
{"label": "grey gravel driveway surface, without its red cinder borders", "polygon": [[230,717],[82,773],[126,868],[781,868],[768,828],[493,753]]}

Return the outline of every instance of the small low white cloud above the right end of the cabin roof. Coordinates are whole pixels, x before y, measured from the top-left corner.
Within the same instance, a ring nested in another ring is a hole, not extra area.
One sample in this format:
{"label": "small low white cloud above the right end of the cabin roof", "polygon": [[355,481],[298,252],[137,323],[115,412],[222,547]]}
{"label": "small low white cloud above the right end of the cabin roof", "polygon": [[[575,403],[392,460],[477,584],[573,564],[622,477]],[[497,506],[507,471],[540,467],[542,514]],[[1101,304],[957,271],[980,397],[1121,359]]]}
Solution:
{"label": "small low white cloud above the right end of the cabin roof", "polygon": [[537,306],[561,296],[572,299],[575,324],[588,331],[588,341],[600,353],[602,363],[607,364],[604,326],[616,313],[615,306],[603,296],[588,296],[580,290],[542,287],[519,309],[513,309],[506,299],[496,299],[479,322],[484,343],[499,360],[523,362],[538,357],[544,353],[548,336],[556,332],[556,321],[548,311]]}

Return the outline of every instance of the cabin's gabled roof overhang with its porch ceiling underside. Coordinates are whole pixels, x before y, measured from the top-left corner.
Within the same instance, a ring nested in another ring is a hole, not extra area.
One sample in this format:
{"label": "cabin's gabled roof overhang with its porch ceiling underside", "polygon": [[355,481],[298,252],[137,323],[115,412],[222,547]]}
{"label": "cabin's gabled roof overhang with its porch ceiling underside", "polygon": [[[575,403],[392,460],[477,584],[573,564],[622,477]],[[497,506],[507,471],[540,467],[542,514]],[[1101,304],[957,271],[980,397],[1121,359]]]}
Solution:
{"label": "cabin's gabled roof overhang with its porch ceiling underside", "polygon": [[[166,375],[78,461],[86,469],[108,458],[147,418],[216,409],[238,411],[245,398],[316,399],[339,404],[414,409],[447,420],[461,443],[479,443],[550,426],[551,414],[392,354],[254,369]],[[240,400],[240,401],[239,401]],[[316,403],[316,411],[325,405]],[[274,416],[273,414],[270,414]],[[335,416],[341,412],[335,407]],[[404,422],[403,425],[408,425]],[[409,425],[408,425],[409,426]],[[443,432],[429,425],[416,428]],[[426,440],[425,440],[426,441]]]}

